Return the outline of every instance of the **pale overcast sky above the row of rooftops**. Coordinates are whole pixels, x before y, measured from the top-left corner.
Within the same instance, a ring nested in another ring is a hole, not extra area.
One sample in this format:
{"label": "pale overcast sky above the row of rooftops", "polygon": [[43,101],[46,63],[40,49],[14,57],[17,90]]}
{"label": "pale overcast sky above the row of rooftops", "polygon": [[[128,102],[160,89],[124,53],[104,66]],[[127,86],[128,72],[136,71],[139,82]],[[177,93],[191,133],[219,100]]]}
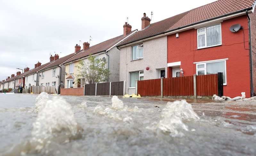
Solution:
{"label": "pale overcast sky above the row of rooftops", "polygon": [[73,53],[79,40],[92,36],[92,46],[122,35],[127,17],[132,30],[140,30],[144,12],[149,18],[153,12],[154,23],[214,1],[1,0],[0,81],[21,71],[16,68],[49,62],[50,53]]}

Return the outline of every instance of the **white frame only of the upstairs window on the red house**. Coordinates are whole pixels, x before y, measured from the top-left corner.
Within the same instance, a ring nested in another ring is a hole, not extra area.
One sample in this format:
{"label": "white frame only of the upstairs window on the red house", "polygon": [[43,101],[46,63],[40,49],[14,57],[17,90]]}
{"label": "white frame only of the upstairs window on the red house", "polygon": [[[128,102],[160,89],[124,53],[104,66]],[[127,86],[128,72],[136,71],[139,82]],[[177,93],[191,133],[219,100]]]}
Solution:
{"label": "white frame only of the upstairs window on the red house", "polygon": [[[220,44],[216,44],[216,45],[211,45],[211,46],[207,46],[207,27],[211,27],[211,26],[216,26],[216,25],[220,25]],[[207,26],[207,27],[200,27],[198,29],[196,29],[196,33],[197,33],[197,49],[202,49],[202,48],[209,48],[209,47],[215,47],[215,46],[219,46],[219,45],[222,45],[222,33],[221,33],[221,23],[217,23],[217,24],[213,24],[213,25],[210,25],[210,26]],[[198,30],[201,30],[201,29],[204,29],[204,32],[201,32],[201,33],[198,33]],[[205,39],[204,39],[204,44],[205,46],[203,47],[199,47],[199,42],[198,42],[198,37],[201,36],[201,35],[204,35],[205,36]]]}

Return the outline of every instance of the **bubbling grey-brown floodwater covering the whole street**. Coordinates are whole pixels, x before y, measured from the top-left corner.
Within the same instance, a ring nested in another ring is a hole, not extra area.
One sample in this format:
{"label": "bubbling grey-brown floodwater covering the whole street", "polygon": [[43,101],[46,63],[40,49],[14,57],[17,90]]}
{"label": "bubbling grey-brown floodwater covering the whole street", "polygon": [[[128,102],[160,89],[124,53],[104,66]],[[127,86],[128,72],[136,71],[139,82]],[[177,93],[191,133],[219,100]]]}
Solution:
{"label": "bubbling grey-brown floodwater covering the whole street", "polygon": [[0,155],[255,155],[256,101],[0,94]]}

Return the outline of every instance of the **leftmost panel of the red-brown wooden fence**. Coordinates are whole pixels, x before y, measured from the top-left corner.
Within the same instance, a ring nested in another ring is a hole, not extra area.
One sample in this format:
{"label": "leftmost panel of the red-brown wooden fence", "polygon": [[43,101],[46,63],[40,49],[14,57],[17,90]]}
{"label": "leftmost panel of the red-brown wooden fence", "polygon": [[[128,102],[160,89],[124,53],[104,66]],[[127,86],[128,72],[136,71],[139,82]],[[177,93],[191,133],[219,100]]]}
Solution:
{"label": "leftmost panel of the red-brown wooden fence", "polygon": [[160,96],[161,79],[138,81],[138,94],[141,96]]}

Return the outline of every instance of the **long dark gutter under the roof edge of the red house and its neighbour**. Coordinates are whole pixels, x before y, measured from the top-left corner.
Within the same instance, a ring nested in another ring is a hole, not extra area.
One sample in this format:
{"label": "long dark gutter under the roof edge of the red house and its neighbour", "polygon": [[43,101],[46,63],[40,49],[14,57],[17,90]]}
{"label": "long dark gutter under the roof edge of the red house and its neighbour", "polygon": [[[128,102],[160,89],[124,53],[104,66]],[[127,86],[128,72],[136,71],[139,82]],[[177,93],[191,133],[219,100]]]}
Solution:
{"label": "long dark gutter under the roof edge of the red house and its neighbour", "polygon": [[145,37],[145,38],[142,38],[142,39],[135,40],[135,41],[130,42],[130,43],[120,44],[117,47],[121,47],[121,46],[124,46],[124,45],[127,45],[127,44],[134,44],[135,42],[145,41],[145,39],[150,40],[149,38],[151,38],[151,37],[161,37],[161,36],[169,35],[171,32],[173,32],[175,30],[180,30],[180,29],[183,29],[183,28],[186,28],[186,27],[194,26],[196,24],[200,24],[200,23],[203,23],[203,22],[209,22],[209,21],[214,20],[214,19],[219,19],[219,18],[226,17],[226,16],[229,16],[229,15],[232,15],[232,14],[240,13],[240,12],[246,13],[246,11],[248,12],[248,10],[252,10],[252,7],[247,8],[247,9],[243,9],[243,10],[239,10],[239,11],[235,11],[235,12],[231,12],[231,13],[227,13],[227,14],[224,14],[224,15],[220,15],[220,16],[213,17],[213,18],[210,18],[210,19],[205,19],[205,20],[202,20],[202,21],[198,21],[198,22],[195,22],[195,23],[191,23],[191,24],[182,26],[182,27],[177,27],[177,28],[174,28],[174,29],[171,29],[171,30],[168,30],[168,31],[164,31],[164,32],[161,32],[161,33],[158,33],[158,34],[155,34],[155,35],[151,35],[151,36],[148,36],[148,37]]}

